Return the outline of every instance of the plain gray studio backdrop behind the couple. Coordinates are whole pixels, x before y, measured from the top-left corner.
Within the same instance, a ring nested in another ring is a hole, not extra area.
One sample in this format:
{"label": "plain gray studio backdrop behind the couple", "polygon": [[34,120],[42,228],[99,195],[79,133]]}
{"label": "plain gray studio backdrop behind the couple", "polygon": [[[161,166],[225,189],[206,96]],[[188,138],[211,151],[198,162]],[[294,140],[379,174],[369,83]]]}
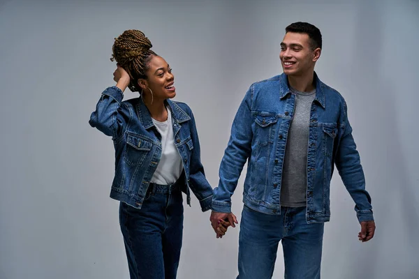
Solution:
{"label": "plain gray studio backdrop behind the couple", "polygon": [[[87,123],[115,84],[115,37],[140,29],[170,63],[215,187],[237,107],[252,82],[281,73],[295,21],[323,33],[316,71],[347,100],[377,225],[358,241],[336,172],[322,277],[419,278],[418,14],[413,0],[0,1],[0,278],[128,278],[112,141]],[[195,197],[185,207],[179,278],[237,275],[239,229],[216,239],[209,217]],[[274,277],[283,272],[280,248]]]}

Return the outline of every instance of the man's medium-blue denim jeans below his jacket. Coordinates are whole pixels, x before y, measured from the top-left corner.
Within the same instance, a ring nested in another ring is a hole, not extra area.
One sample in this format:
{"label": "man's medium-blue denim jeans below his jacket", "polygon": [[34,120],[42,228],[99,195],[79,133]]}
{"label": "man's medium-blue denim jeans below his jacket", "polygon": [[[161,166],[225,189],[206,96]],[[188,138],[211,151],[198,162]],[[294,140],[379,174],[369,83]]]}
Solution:
{"label": "man's medium-blue denim jeans below his jacket", "polygon": [[244,206],[237,279],[272,278],[279,241],[285,278],[320,278],[324,223],[307,224],[305,212],[305,206],[281,207],[281,215],[268,215]]}

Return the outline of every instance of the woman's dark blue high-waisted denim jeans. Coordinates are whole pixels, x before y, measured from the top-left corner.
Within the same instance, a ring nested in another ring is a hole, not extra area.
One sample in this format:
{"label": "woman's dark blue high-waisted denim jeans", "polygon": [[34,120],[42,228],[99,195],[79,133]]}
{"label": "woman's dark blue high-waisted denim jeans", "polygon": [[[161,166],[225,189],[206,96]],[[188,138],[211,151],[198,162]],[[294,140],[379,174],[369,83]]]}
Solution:
{"label": "woman's dark blue high-waisted denim jeans", "polygon": [[175,279],[182,248],[182,192],[150,186],[141,209],[121,202],[119,223],[131,279]]}

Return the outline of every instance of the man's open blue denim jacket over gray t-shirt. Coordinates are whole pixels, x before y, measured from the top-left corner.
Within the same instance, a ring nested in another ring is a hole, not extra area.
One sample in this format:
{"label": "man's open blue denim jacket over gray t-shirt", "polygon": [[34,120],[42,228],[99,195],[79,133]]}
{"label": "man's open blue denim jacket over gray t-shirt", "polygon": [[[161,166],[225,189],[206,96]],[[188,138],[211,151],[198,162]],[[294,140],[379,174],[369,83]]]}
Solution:
{"label": "man's open blue denim jacket over gray t-shirt", "polygon": [[[311,105],[307,142],[307,223],[330,220],[330,179],[334,165],[355,202],[358,220],[374,220],[345,100],[321,82],[316,73],[314,79],[316,98]],[[230,197],[248,160],[244,204],[262,213],[281,213],[281,177],[294,107],[295,96],[285,74],[250,86],[233,121],[212,210],[230,212]]]}

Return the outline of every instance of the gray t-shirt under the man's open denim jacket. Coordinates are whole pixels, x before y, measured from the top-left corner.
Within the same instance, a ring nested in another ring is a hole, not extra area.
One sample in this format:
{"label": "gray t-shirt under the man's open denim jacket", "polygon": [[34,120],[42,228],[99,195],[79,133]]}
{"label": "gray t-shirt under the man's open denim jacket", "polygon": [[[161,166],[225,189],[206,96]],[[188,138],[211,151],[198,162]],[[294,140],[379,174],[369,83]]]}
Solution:
{"label": "gray t-shirt under the man's open denim jacket", "polygon": [[307,204],[307,147],[311,103],[316,98],[316,90],[301,92],[290,89],[295,95],[295,107],[286,141],[281,206],[298,207]]}

